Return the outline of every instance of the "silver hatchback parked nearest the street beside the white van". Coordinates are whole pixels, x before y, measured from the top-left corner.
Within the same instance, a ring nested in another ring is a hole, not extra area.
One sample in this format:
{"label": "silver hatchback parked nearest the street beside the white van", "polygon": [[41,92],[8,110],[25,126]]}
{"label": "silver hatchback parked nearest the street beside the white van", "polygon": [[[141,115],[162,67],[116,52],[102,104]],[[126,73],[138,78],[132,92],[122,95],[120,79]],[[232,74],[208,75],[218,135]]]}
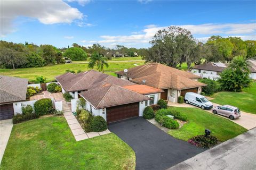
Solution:
{"label": "silver hatchback parked nearest the street beside the white van", "polygon": [[229,117],[230,120],[241,117],[241,113],[238,107],[223,105],[212,108],[212,113]]}

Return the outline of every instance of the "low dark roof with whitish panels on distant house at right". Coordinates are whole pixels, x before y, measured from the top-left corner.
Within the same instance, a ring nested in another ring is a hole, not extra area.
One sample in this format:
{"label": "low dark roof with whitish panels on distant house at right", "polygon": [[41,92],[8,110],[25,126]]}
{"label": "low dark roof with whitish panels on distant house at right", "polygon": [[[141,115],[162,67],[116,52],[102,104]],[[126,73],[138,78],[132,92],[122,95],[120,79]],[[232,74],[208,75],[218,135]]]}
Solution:
{"label": "low dark roof with whitish panels on distant house at right", "polygon": [[227,65],[228,65],[227,63],[208,62],[204,64],[195,65],[193,69],[222,72],[224,69],[227,68]]}

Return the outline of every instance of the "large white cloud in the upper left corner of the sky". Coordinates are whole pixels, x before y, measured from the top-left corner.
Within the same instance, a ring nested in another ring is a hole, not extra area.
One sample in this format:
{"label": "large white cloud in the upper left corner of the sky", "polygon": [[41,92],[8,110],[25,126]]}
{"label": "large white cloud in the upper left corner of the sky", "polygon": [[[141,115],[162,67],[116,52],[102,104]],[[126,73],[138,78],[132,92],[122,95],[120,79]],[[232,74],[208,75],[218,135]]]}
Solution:
{"label": "large white cloud in the upper left corner of the sky", "polygon": [[1,1],[1,35],[14,32],[13,20],[18,16],[37,19],[43,24],[71,23],[84,15],[67,3],[55,1]]}

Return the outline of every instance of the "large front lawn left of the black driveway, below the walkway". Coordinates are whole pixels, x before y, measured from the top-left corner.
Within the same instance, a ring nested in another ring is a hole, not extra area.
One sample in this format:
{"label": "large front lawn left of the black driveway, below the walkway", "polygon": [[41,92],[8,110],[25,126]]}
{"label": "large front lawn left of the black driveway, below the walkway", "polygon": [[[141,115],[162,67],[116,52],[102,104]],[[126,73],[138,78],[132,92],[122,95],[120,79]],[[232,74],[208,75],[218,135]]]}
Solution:
{"label": "large front lawn left of the black driveway, below the walkway", "polygon": [[13,126],[0,169],[135,169],[135,154],[114,133],[76,142],[64,117],[45,117]]}

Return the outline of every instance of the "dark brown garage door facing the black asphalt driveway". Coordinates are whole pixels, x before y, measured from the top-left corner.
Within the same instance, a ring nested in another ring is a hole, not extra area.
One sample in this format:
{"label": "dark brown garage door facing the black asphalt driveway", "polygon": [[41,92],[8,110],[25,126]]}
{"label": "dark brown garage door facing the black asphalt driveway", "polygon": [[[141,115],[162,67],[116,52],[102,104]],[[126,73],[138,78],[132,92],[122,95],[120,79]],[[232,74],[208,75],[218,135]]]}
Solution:
{"label": "dark brown garage door facing the black asphalt driveway", "polygon": [[139,116],[139,103],[119,105],[107,108],[107,122]]}

